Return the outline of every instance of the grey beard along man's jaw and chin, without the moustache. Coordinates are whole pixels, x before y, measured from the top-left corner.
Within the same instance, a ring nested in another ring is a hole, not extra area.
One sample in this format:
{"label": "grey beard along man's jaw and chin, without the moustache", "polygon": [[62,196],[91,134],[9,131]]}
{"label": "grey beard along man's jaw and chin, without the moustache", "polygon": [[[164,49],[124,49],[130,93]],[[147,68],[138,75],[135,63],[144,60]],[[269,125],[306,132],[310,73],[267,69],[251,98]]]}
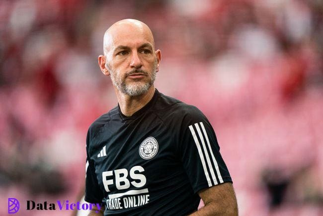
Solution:
{"label": "grey beard along man's jaw and chin, without the moustache", "polygon": [[156,70],[157,70],[157,62],[155,63],[153,73],[151,76],[151,80],[149,83],[141,83],[141,82],[134,82],[133,84],[127,85],[125,81],[118,80],[116,76],[116,72],[111,70],[108,64],[106,67],[109,69],[111,74],[111,81],[112,84],[117,87],[117,89],[125,95],[129,95],[130,97],[141,96],[144,95],[154,84],[156,80]]}

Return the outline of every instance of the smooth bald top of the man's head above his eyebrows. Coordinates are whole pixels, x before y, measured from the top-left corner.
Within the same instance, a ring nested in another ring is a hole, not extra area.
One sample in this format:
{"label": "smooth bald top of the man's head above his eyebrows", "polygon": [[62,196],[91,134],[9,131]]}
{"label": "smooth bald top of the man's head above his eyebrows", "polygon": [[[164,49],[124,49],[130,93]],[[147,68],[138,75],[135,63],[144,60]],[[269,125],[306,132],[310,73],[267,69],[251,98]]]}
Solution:
{"label": "smooth bald top of the man's head above his eyebrows", "polygon": [[119,45],[126,45],[132,38],[142,38],[155,49],[153,33],[144,22],[136,19],[123,19],[111,25],[104,33],[103,52],[106,56]]}

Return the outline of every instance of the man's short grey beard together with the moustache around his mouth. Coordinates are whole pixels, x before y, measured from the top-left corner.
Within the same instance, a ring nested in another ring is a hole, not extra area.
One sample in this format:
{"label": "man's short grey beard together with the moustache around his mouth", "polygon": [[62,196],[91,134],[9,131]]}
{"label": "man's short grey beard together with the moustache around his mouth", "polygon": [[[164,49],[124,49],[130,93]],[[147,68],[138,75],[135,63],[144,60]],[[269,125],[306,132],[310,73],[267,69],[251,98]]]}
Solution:
{"label": "man's short grey beard together with the moustache around his mouth", "polygon": [[156,80],[156,74],[157,74],[157,61],[154,64],[154,69],[151,73],[151,76],[149,73],[141,70],[141,69],[135,69],[129,73],[127,73],[127,76],[134,74],[134,73],[143,73],[146,74],[147,76],[150,77],[149,82],[143,83],[141,81],[134,81],[130,84],[126,84],[125,79],[122,79],[118,77],[118,72],[111,70],[111,67],[109,64],[106,64],[106,67],[110,71],[110,77],[112,84],[123,94],[128,95],[130,97],[135,97],[135,96],[141,96],[144,95],[154,84]]}

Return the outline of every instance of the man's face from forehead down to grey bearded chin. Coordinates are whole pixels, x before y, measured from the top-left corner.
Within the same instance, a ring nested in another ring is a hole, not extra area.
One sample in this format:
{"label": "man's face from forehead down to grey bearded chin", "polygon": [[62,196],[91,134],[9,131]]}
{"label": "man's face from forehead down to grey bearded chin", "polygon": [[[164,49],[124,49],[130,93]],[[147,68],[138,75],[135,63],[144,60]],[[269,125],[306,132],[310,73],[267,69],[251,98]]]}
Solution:
{"label": "man's face from forehead down to grey bearded chin", "polygon": [[106,52],[106,68],[113,85],[123,94],[139,96],[154,84],[158,59],[150,35],[141,29],[113,32]]}

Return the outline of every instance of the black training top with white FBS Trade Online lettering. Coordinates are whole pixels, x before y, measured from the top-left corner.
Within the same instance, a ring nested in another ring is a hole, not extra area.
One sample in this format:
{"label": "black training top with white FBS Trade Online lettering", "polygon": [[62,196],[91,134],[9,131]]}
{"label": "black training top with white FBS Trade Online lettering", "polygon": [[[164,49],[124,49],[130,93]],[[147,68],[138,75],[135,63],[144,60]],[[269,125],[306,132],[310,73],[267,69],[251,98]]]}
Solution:
{"label": "black training top with white FBS Trade Online lettering", "polygon": [[232,182],[214,130],[196,107],[161,94],[132,116],[119,106],[86,137],[85,201],[104,216],[188,215],[197,192]]}

